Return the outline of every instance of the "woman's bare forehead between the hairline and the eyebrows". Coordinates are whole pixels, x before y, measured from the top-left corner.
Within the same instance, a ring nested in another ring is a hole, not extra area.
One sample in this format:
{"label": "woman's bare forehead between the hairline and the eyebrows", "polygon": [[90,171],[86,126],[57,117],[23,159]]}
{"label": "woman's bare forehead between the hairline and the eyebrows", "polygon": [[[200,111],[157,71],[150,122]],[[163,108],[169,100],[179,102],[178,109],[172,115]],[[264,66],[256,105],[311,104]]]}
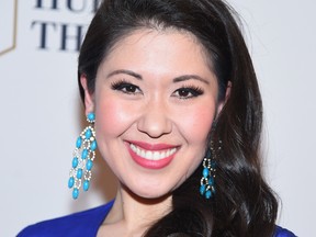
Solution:
{"label": "woman's bare forehead between the hairline and the eyebrows", "polygon": [[169,65],[173,66],[174,70],[177,66],[192,67],[196,64],[212,68],[199,40],[187,31],[172,29],[133,31],[113,45],[103,63],[108,67],[113,64],[120,67],[123,63],[131,65],[138,63],[138,66],[151,64],[155,68]]}

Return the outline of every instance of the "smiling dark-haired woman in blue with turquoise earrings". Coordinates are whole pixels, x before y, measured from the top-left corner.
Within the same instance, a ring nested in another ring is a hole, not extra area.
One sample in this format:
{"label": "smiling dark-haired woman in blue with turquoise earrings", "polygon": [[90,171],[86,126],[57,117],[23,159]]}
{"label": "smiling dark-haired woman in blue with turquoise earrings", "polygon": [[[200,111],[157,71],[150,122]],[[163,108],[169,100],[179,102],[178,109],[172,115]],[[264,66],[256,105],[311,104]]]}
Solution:
{"label": "smiling dark-haired woman in blue with turquoise earrings", "polygon": [[69,187],[75,199],[81,180],[89,189],[98,140],[116,198],[20,236],[294,236],[275,226],[260,92],[232,12],[219,0],[101,4],[79,56],[91,125]]}

